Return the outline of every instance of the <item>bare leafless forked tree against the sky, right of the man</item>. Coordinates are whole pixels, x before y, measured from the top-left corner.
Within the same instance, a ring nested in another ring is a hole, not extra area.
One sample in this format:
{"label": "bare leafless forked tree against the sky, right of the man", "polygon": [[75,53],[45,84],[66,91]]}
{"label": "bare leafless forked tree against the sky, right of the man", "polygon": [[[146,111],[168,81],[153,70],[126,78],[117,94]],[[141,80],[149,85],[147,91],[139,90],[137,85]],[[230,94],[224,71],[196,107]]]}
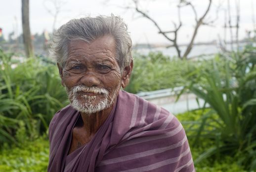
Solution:
{"label": "bare leafless forked tree against the sky, right of the man", "polygon": [[[213,21],[209,22],[209,23],[206,23],[204,22],[204,19],[205,17],[207,16],[208,12],[210,11],[210,7],[212,5],[212,0],[208,0],[209,3],[207,5],[207,8],[205,10],[205,12],[203,13],[203,15],[198,18],[198,14],[197,14],[197,11],[194,7],[194,5],[192,4],[192,2],[190,1],[187,1],[187,0],[180,0],[179,1],[179,4],[178,4],[178,24],[173,23],[173,26],[174,26],[174,29],[173,30],[169,30],[169,31],[164,31],[163,29],[161,29],[160,25],[157,23],[157,21],[155,19],[153,19],[153,17],[149,16],[148,13],[144,12],[142,9],[139,8],[139,0],[132,0],[135,4],[135,7],[134,9],[136,10],[136,12],[140,13],[143,17],[149,19],[155,26],[156,28],[158,29],[158,33],[162,34],[166,39],[168,39],[169,41],[172,42],[172,45],[175,49],[176,49],[176,52],[177,52],[177,55],[179,58],[187,58],[188,54],[191,52],[192,48],[193,48],[193,44],[194,44],[194,41],[195,41],[195,38],[196,38],[196,35],[198,33],[198,29],[201,25],[210,25],[211,23],[213,23]],[[184,52],[183,55],[181,55],[181,51],[180,51],[180,48],[179,48],[179,45],[177,43],[177,38],[178,38],[178,31],[179,29],[182,27],[182,22],[181,22],[181,19],[180,19],[180,8],[184,7],[184,6],[190,6],[194,12],[194,15],[195,15],[195,27],[194,27],[194,30],[193,30],[193,34],[192,34],[192,37],[189,41],[189,44],[188,46],[186,47],[186,50]],[[130,7],[128,7],[130,8]],[[172,35],[170,35],[169,33],[172,33]]]}

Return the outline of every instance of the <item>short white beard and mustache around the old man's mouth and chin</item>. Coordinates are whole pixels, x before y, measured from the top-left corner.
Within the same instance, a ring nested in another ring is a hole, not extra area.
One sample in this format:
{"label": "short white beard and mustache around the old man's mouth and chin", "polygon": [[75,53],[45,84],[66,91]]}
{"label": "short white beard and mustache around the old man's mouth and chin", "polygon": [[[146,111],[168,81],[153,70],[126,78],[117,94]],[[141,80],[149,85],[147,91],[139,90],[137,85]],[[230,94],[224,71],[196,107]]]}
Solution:
{"label": "short white beard and mustache around the old man's mouth and chin", "polygon": [[[91,115],[110,108],[117,98],[119,87],[120,85],[111,92],[106,88],[87,86],[74,86],[71,90],[68,90],[66,87],[66,91],[68,93],[71,106],[75,110]],[[86,95],[83,94],[83,92],[91,92],[96,95]],[[99,98],[98,96],[103,96],[103,98]],[[98,103],[96,101],[98,101]]]}

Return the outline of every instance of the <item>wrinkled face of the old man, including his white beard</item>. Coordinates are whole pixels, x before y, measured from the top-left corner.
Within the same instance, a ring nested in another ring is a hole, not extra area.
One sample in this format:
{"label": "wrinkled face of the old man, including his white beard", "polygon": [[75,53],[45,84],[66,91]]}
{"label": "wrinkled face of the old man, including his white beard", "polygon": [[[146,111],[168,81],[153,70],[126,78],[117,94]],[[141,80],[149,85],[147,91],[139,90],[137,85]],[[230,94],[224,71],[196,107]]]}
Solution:
{"label": "wrinkled face of the old man, including his white beard", "polygon": [[124,80],[115,39],[106,35],[90,44],[73,40],[68,48],[67,62],[59,70],[72,106],[87,114],[112,107]]}

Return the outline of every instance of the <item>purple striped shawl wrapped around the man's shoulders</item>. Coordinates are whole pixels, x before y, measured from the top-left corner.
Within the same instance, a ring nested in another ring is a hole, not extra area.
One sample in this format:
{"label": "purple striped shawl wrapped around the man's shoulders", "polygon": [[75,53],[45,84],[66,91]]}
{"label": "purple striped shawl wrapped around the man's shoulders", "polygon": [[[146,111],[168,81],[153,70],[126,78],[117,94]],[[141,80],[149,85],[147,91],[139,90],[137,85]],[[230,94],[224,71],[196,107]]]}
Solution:
{"label": "purple striped shawl wrapped around the man's shoulders", "polygon": [[[80,115],[71,106],[49,126],[48,172],[194,172],[184,129],[174,115],[120,91],[116,106],[92,140],[65,164]],[[71,155],[71,154],[70,154]]]}

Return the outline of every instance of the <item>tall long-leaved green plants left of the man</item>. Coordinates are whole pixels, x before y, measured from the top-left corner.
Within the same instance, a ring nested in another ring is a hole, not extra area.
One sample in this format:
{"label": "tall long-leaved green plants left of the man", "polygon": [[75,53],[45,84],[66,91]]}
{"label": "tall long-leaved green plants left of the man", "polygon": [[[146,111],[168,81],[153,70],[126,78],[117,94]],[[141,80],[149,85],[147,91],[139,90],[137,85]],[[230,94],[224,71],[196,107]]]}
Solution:
{"label": "tall long-leaved green plants left of the man", "polygon": [[17,62],[12,57],[0,50],[0,145],[17,144],[17,132],[37,138],[68,103],[56,66],[40,59]]}

